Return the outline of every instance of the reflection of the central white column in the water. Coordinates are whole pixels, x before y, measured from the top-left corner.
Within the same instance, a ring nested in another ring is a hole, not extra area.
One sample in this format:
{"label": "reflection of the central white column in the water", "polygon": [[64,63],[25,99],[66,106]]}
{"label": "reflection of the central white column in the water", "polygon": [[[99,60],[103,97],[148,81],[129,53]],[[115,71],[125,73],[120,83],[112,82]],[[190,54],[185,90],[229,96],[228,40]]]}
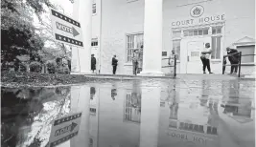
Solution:
{"label": "reflection of the central white column in the water", "polygon": [[155,147],[158,143],[161,89],[142,89],[140,147]]}

